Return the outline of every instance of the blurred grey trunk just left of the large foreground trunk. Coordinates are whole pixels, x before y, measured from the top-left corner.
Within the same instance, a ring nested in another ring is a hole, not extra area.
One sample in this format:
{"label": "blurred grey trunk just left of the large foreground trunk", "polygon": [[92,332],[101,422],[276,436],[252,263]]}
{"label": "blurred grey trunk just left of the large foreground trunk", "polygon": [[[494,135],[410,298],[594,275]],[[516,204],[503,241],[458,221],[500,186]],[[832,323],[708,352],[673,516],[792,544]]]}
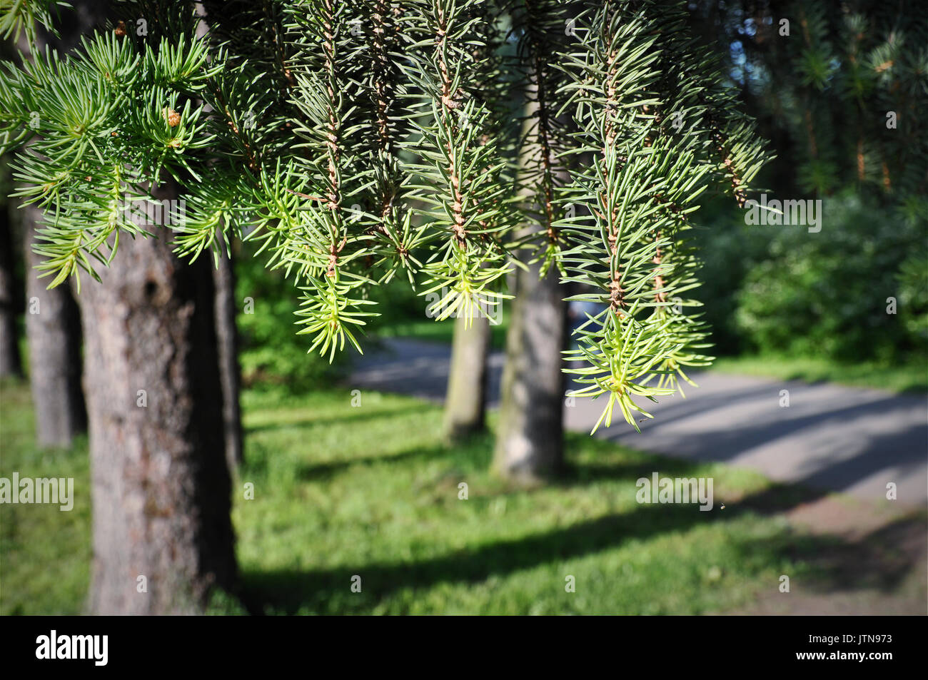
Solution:
{"label": "blurred grey trunk just left of the large foreground trunk", "polygon": [[35,437],[39,446],[70,446],[86,429],[81,392],[81,322],[66,285],[48,290],[50,279],[39,278],[42,258],[32,251],[42,211],[21,209],[26,278],[26,338],[29,341],[29,380],[35,409]]}

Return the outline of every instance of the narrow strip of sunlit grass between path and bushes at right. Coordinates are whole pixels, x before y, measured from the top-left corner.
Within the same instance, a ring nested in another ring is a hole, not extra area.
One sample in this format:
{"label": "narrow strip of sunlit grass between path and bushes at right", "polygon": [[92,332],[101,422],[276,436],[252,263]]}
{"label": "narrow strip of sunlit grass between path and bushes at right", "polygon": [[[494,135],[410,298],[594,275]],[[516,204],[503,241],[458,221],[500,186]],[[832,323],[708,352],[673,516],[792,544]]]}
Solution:
{"label": "narrow strip of sunlit grass between path and bushes at right", "polygon": [[782,380],[834,382],[894,392],[928,391],[928,363],[924,359],[887,366],[872,361],[844,364],[820,357],[727,356],[716,359],[711,370]]}

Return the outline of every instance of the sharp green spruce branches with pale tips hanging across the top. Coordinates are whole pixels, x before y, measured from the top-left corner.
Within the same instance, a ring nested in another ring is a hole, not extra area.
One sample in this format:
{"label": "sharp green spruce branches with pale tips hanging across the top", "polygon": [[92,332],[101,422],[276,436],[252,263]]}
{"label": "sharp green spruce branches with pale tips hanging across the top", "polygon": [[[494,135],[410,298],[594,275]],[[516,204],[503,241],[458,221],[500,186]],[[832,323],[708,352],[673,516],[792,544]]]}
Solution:
{"label": "sharp green spruce branches with pale tips hanging across the top", "polygon": [[[73,58],[0,74],[0,147],[32,141],[15,170],[48,215],[37,250],[52,285],[97,276],[118,257],[111,236],[142,237],[125,199],[174,178],[177,250],[215,253],[253,225],[329,357],[361,350],[369,287],[402,273],[441,292],[436,318],[470,318],[506,295],[510,255],[528,248],[591,291],[574,299],[604,305],[569,356],[582,393],[608,395],[600,423],[618,406],[637,428],[640,398],[682,392],[685,368],[708,364],[690,214],[709,188],[743,203],[765,155],[682,6],[588,2],[570,19],[531,0],[205,2],[203,18],[121,6],[161,38],[123,19]],[[506,36],[488,20],[506,11],[539,100],[519,145]],[[546,54],[556,29],[567,39]],[[541,150],[523,189],[524,145]]]}

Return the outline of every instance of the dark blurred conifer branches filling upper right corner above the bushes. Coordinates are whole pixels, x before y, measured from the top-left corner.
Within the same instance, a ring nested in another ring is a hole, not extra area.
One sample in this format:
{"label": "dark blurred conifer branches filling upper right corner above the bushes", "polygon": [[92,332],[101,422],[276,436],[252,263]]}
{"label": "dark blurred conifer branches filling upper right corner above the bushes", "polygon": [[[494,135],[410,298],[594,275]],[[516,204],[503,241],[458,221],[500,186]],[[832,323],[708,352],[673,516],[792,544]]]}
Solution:
{"label": "dark blurred conifer branches filling upper right corner above the bushes", "polygon": [[742,98],[790,150],[774,163],[778,186],[819,196],[853,186],[924,219],[928,18],[919,3],[731,2],[711,22],[698,19],[732,45]]}

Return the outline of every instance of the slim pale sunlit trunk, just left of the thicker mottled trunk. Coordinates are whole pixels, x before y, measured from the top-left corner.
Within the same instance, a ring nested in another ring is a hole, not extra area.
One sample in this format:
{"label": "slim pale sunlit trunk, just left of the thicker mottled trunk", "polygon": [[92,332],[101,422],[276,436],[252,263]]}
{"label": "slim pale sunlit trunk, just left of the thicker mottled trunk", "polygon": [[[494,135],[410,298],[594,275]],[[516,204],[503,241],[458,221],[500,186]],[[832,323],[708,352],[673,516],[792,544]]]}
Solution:
{"label": "slim pale sunlit trunk, just left of the thicker mottled trunk", "polygon": [[[470,323],[470,327],[465,327]],[[486,427],[486,355],[490,350],[490,322],[485,316],[455,319],[451,366],[445,395],[445,438],[451,442]]]}

